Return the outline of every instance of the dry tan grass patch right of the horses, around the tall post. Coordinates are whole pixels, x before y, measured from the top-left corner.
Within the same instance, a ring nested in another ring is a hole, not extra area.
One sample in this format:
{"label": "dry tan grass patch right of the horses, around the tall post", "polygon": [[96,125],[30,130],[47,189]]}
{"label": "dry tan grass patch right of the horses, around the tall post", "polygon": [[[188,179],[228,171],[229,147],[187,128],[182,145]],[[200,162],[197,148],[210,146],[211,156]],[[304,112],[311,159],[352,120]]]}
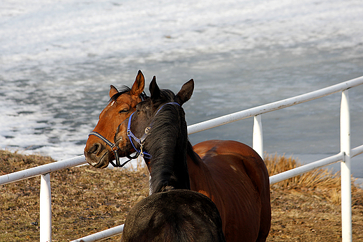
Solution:
{"label": "dry tan grass patch right of the horses, around the tall post", "polygon": [[[292,157],[267,156],[269,175],[299,167]],[[339,172],[316,169],[271,186],[272,227],[267,241],[341,241]],[[352,181],[353,241],[363,241],[363,190]]]}

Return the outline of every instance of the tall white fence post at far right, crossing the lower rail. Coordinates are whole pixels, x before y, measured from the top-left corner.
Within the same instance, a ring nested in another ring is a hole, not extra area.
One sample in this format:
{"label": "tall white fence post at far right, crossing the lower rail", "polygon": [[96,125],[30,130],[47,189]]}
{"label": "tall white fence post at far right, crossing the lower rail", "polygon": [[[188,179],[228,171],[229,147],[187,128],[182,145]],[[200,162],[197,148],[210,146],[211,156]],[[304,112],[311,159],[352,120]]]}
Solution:
{"label": "tall white fence post at far right, crossing the lower rail", "polygon": [[341,93],[341,239],[352,241],[352,197],[350,188],[350,112],[348,89]]}

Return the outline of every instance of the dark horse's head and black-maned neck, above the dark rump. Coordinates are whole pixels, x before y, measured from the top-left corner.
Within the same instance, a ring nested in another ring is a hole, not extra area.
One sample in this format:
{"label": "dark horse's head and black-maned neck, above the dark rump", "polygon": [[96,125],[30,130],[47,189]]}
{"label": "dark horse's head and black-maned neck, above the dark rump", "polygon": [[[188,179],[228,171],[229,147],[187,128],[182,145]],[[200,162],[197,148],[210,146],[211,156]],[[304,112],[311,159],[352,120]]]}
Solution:
{"label": "dark horse's head and black-maned neck, above the dark rump", "polygon": [[139,103],[117,129],[114,141],[120,156],[128,156],[134,149],[145,154],[152,192],[190,189],[186,165],[190,143],[182,105],[191,98],[193,89],[194,81],[190,80],[175,95],[159,89],[154,77],[149,86],[151,97]]}

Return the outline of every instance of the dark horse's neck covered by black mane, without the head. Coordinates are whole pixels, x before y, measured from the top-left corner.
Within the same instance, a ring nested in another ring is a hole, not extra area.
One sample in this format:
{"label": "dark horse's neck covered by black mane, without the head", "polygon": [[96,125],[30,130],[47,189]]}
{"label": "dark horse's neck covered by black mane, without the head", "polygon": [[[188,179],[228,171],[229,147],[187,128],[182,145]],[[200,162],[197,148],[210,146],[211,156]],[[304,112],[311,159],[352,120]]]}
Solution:
{"label": "dark horse's neck covered by black mane, without the head", "polygon": [[151,192],[191,189],[186,165],[187,144],[184,110],[179,105],[165,105],[154,117],[151,133],[145,140],[145,149],[151,155]]}

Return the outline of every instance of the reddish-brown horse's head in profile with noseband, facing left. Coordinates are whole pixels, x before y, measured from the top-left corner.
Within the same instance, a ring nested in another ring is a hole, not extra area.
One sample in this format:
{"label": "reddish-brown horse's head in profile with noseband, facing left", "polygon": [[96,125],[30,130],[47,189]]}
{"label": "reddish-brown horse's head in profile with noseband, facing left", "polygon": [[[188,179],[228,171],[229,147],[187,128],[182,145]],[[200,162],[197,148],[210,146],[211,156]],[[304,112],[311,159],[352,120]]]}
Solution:
{"label": "reddish-brown horse's head in profile with noseband, facing left", "polygon": [[[94,132],[102,135],[110,142],[114,140],[117,126],[128,118],[138,103],[142,101],[145,78],[139,70],[131,89],[119,92],[114,86],[110,88],[110,102],[99,116]],[[89,165],[96,168],[105,168],[114,159],[114,153],[102,139],[90,135],[84,148],[84,156]]]}

